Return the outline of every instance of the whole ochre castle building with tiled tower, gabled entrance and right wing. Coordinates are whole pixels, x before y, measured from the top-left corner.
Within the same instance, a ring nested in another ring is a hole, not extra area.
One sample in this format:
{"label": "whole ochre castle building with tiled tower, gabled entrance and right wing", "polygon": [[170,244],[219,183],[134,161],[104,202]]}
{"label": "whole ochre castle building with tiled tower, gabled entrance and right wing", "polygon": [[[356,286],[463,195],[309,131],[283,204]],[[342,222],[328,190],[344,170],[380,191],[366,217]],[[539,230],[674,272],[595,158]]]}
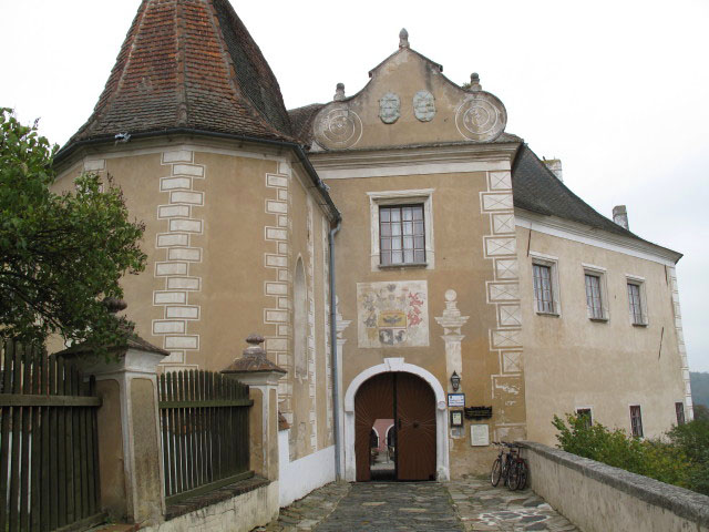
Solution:
{"label": "whole ochre castle building with tiled tower, gabled entrance and right wing", "polygon": [[356,94],[287,111],[228,0],[141,3],[56,186],[110,174],[144,221],[123,286],[163,370],[266,338],[282,504],[369,480],[391,420],[391,475],[429,480],[487,471],[492,441],[554,444],[554,415],[690,419],[681,255],[576,196],[476,74],[392,44]]}

